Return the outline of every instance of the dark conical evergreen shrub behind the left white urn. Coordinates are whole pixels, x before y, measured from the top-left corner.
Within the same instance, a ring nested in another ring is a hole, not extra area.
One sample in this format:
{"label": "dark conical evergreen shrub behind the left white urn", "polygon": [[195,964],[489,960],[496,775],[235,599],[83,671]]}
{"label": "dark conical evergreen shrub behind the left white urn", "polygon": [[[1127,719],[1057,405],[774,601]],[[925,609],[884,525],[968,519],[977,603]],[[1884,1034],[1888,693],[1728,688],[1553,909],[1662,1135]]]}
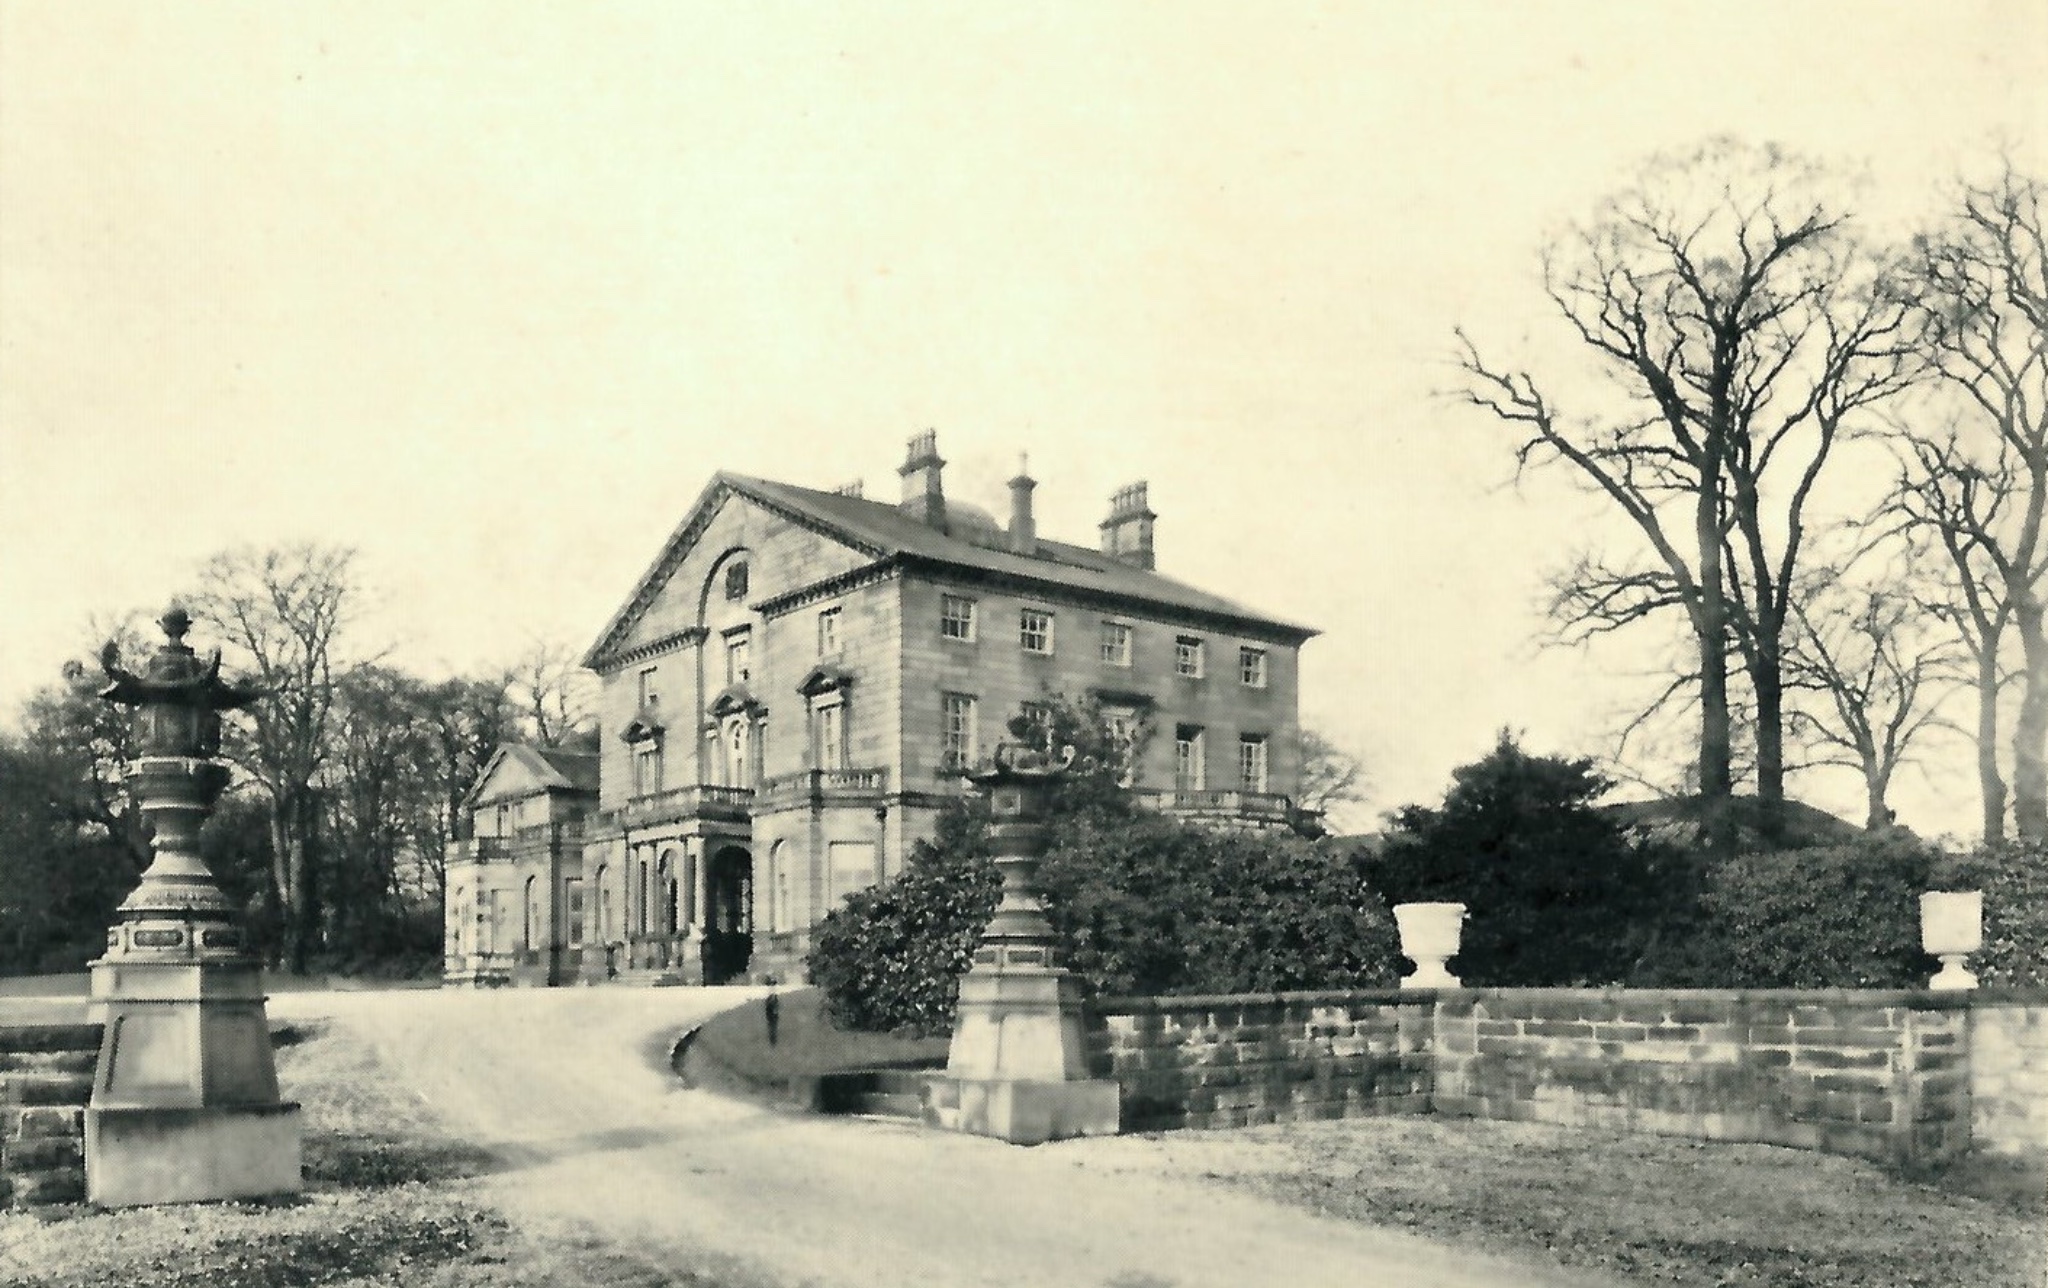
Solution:
{"label": "dark conical evergreen shrub behind the left white urn", "polygon": [[1452,969],[1470,985],[1628,979],[1694,870],[1595,807],[1608,788],[1589,760],[1530,756],[1503,731],[1485,760],[1452,772],[1440,807],[1395,813],[1368,876],[1389,903],[1466,905]]}

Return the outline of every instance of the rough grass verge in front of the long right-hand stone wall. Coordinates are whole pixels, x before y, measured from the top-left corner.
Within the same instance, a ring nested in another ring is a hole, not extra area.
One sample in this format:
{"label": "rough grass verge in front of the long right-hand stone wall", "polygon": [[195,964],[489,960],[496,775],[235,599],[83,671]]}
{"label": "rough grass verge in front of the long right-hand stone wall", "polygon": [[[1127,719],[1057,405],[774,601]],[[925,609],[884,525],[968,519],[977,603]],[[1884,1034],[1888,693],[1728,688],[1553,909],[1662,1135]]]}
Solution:
{"label": "rough grass verge in front of the long right-hand stone wall", "polygon": [[1993,1186],[1995,1198],[1978,1198],[1772,1145],[1452,1118],[1155,1143],[1178,1167],[1292,1206],[1630,1282],[2048,1284],[2048,1198],[2034,1186]]}

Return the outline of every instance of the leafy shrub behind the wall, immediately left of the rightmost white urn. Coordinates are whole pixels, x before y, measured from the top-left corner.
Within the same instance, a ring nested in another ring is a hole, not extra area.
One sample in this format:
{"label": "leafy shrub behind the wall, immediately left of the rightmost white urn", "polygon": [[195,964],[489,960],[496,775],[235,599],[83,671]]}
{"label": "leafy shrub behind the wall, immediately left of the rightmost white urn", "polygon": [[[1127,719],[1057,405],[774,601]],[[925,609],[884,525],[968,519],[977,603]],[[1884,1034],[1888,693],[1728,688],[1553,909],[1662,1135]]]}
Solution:
{"label": "leafy shrub behind the wall, immediately left of the rightmost white urn", "polygon": [[1743,989],[1896,989],[1923,985],[1919,895],[1939,856],[1907,833],[1855,846],[1741,854],[1716,864],[1700,897],[1710,983]]}

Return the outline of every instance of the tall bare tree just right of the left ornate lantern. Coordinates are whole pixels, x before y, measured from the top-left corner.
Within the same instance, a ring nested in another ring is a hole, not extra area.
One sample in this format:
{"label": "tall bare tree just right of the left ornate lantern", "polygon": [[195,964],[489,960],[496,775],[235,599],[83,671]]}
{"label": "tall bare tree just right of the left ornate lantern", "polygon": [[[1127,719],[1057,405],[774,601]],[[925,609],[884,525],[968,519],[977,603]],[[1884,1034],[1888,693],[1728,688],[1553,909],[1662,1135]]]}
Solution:
{"label": "tall bare tree just right of the left ornate lantern", "polygon": [[336,643],[356,596],[354,553],[297,545],[227,551],[201,569],[193,612],[266,696],[238,721],[227,752],[270,805],[270,887],[285,956],[305,973],[319,936],[313,868],[322,821],[322,768],[332,752],[334,686],[344,668]]}

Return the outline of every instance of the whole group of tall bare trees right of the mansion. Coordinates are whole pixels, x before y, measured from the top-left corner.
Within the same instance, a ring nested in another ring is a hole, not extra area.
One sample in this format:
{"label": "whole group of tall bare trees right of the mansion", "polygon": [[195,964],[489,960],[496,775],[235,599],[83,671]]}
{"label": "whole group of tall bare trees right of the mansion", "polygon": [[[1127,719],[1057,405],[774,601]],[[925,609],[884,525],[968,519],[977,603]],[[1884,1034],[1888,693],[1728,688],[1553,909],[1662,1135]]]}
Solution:
{"label": "whole group of tall bare trees right of the mansion", "polygon": [[1882,827],[1942,727],[1976,743],[1987,840],[2042,840],[2042,180],[1958,182],[1903,240],[1839,188],[1733,141],[1651,162],[1544,254],[1563,352],[1536,375],[1460,330],[1454,393],[1632,530],[1556,571],[1554,635],[1665,629],[1675,661],[1624,758],[1690,711],[1686,786],[1722,846],[1714,805],[1753,786],[1772,813],[1817,764],[1858,770]]}

